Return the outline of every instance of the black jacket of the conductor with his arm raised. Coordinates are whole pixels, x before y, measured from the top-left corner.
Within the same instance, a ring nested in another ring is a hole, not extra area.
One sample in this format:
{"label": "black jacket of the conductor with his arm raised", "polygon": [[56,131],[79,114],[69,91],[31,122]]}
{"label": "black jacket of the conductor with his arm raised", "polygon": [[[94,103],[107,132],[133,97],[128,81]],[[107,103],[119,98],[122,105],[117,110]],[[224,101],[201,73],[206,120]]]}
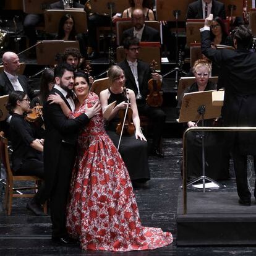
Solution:
{"label": "black jacket of the conductor with his arm raised", "polygon": [[[212,49],[210,31],[201,33],[202,53],[220,65],[218,88],[224,87],[223,120],[226,126],[256,126],[256,53]],[[254,133],[255,134],[255,133]],[[239,134],[244,155],[256,155],[256,134]]]}

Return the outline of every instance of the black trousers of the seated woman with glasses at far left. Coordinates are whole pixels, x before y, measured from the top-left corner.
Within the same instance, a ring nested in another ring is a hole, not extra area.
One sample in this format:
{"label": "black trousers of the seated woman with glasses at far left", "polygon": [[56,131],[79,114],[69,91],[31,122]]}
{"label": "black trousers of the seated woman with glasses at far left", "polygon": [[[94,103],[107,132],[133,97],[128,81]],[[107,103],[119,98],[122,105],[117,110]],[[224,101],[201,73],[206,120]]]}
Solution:
{"label": "black trousers of the seated woman with glasses at far left", "polygon": [[[43,170],[43,161],[30,158],[23,162],[21,168],[15,171],[15,174],[19,175],[35,175],[40,177],[40,179],[45,179],[44,170]],[[41,205],[46,201],[46,194],[45,194],[45,184],[42,183],[38,192],[34,197],[36,203],[40,203]]]}

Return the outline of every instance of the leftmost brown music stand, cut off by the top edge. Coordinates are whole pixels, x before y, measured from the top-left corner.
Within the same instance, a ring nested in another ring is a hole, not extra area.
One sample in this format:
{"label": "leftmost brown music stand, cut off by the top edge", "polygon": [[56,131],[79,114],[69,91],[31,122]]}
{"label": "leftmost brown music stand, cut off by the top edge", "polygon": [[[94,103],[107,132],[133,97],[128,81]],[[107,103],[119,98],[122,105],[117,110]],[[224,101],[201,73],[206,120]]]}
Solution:
{"label": "leftmost brown music stand, cut off by the top edge", "polygon": [[49,4],[56,0],[23,0],[23,12],[25,14],[43,14],[49,9]]}

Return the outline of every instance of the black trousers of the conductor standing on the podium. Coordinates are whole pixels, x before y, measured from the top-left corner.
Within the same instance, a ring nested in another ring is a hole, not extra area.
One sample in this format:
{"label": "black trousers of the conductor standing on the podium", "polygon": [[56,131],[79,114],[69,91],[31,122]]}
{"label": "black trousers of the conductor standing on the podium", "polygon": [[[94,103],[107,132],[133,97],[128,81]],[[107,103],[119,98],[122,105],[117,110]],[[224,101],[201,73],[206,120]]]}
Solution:
{"label": "black trousers of the conductor standing on the podium", "polygon": [[[233,147],[233,161],[234,161],[234,171],[236,173],[236,187],[237,194],[241,200],[249,201],[251,194],[247,182],[247,155],[241,155],[239,150],[239,145],[234,144]],[[254,170],[256,166],[256,156],[254,156]],[[254,188],[256,186],[256,180]],[[254,190],[254,197],[256,198],[256,191]]]}

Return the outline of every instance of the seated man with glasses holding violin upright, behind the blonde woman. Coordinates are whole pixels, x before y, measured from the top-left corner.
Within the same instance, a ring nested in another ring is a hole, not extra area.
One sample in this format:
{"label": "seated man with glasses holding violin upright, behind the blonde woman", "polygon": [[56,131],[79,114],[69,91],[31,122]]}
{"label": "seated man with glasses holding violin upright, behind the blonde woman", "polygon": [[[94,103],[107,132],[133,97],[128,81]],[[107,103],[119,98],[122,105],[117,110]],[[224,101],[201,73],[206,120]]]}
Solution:
{"label": "seated man with glasses holding violin upright, behind the blonde woman", "polygon": [[148,80],[151,78],[155,80],[162,80],[162,77],[158,73],[151,74],[148,63],[138,61],[139,49],[138,38],[126,38],[126,40],[124,40],[126,59],[120,62],[118,66],[124,70],[126,87],[133,90],[136,95],[139,114],[147,116],[153,122],[151,155],[164,157],[161,149],[161,138],[163,135],[166,114],[163,109],[148,106],[146,103],[148,95]]}

